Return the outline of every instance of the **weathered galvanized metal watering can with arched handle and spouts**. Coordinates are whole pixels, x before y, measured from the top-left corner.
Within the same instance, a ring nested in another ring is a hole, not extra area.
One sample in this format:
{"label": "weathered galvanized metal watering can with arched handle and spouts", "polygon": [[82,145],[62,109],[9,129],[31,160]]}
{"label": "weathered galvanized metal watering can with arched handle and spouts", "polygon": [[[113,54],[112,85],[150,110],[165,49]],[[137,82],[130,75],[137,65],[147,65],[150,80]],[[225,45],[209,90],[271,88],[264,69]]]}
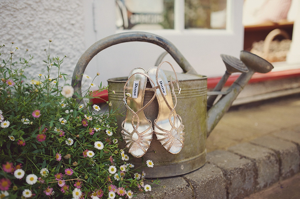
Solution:
{"label": "weathered galvanized metal watering can with arched handle and spouts", "polygon": [[[177,176],[202,167],[206,162],[207,136],[232,105],[232,102],[248,83],[252,75],[255,72],[267,73],[273,68],[272,64],[266,60],[247,51],[241,51],[240,59],[229,55],[221,55],[227,69],[226,73],[216,88],[212,92],[207,92],[207,77],[198,75],[178,49],[168,40],[145,32],[125,32],[99,40],[80,57],[72,79],[75,91],[81,95],[82,74],[89,61],[96,54],[112,45],[129,41],[149,42],[162,47],[183,69],[183,73],[177,74],[182,90],[181,95],[177,96],[176,112],[182,117],[185,126],[185,146],[178,154],[170,154],[158,142],[156,136],[153,135],[153,140],[147,153],[142,158],[132,158],[130,160],[136,167],[145,165],[148,159],[153,161],[154,168],[145,167],[141,169],[146,172],[147,178]],[[163,59],[162,57],[158,59],[156,66]],[[165,72],[169,76],[168,72]],[[242,74],[227,91],[221,91],[227,78],[233,72],[242,72]],[[123,87],[127,78],[108,79],[109,89],[116,92],[108,96],[108,100],[112,102],[111,109],[120,107],[123,104]],[[150,83],[148,87],[151,88]],[[212,95],[207,98],[209,94]],[[218,95],[222,97],[215,102]],[[152,97],[153,92],[146,91],[144,104]],[[126,107],[122,106],[119,112],[124,115],[117,117],[118,132],[121,132],[121,123],[126,115]],[[144,110],[144,113],[153,123],[158,114],[158,104],[153,101]],[[125,148],[124,143],[121,143],[120,147]]]}

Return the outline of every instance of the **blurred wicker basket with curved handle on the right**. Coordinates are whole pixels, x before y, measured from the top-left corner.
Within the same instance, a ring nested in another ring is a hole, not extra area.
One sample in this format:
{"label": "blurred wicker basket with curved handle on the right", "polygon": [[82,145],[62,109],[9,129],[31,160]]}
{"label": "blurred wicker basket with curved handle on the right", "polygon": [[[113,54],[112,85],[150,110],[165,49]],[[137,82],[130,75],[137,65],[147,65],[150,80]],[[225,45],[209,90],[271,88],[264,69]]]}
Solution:
{"label": "blurred wicker basket with curved handle on the right", "polygon": [[[274,40],[276,36],[282,36],[285,39]],[[254,42],[250,52],[269,62],[285,61],[291,42],[287,32],[277,28],[272,30],[264,41]]]}

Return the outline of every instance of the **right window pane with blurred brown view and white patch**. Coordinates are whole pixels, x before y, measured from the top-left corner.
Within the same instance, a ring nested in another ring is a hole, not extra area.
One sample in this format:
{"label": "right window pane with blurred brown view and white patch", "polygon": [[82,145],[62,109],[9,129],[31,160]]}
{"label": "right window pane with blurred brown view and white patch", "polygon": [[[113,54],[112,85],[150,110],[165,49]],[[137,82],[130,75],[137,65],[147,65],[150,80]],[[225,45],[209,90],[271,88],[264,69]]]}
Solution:
{"label": "right window pane with blurred brown view and white patch", "polygon": [[185,0],[184,27],[225,29],[226,0]]}

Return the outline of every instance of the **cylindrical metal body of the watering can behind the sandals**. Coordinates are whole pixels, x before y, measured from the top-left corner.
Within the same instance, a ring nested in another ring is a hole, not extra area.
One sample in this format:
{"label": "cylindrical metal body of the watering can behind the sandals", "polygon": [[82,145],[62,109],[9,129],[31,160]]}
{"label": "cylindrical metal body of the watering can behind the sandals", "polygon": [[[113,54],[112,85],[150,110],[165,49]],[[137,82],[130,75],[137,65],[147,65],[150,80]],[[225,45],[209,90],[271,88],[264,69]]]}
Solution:
{"label": "cylindrical metal body of the watering can behind the sandals", "polygon": [[[165,71],[167,78],[172,72]],[[200,75],[177,73],[181,94],[177,96],[176,113],[182,117],[185,126],[184,147],[178,154],[168,153],[153,135],[150,148],[142,158],[132,158],[130,162],[135,166],[145,166],[148,159],[152,160],[155,168],[141,168],[147,174],[147,178],[169,177],[182,175],[202,167],[206,162],[206,100],[207,100],[207,78]],[[175,78],[173,73],[173,79]],[[111,110],[117,107],[123,116],[117,116],[118,132],[121,132],[121,124],[126,115],[126,107],[123,103],[123,87],[127,78],[108,79],[110,90],[115,94],[108,95],[108,101],[112,102]],[[151,88],[150,83],[147,87]],[[153,92],[146,91],[144,105],[153,97]],[[175,99],[173,98],[173,102]],[[121,103],[121,104],[120,104]],[[144,114],[148,120],[154,120],[158,115],[158,102],[155,99],[145,110]],[[125,148],[124,143],[120,144]],[[128,154],[128,153],[127,153]]]}

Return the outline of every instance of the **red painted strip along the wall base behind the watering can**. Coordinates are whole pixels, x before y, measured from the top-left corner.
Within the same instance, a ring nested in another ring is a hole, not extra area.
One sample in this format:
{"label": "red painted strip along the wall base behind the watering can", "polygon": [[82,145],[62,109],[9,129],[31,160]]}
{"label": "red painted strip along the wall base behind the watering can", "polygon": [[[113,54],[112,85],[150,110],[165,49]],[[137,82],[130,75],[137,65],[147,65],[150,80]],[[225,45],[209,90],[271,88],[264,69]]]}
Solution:
{"label": "red painted strip along the wall base behind the watering can", "polygon": [[[249,83],[257,83],[268,80],[292,78],[298,76],[300,76],[300,69],[283,70],[269,73],[254,73]],[[238,77],[239,75],[231,75],[225,83],[225,86],[230,86]],[[221,78],[222,77],[207,78],[207,89],[213,89]],[[95,97],[91,99],[93,104],[106,103],[108,101],[108,91],[104,90],[102,92],[93,92],[93,97]]]}

